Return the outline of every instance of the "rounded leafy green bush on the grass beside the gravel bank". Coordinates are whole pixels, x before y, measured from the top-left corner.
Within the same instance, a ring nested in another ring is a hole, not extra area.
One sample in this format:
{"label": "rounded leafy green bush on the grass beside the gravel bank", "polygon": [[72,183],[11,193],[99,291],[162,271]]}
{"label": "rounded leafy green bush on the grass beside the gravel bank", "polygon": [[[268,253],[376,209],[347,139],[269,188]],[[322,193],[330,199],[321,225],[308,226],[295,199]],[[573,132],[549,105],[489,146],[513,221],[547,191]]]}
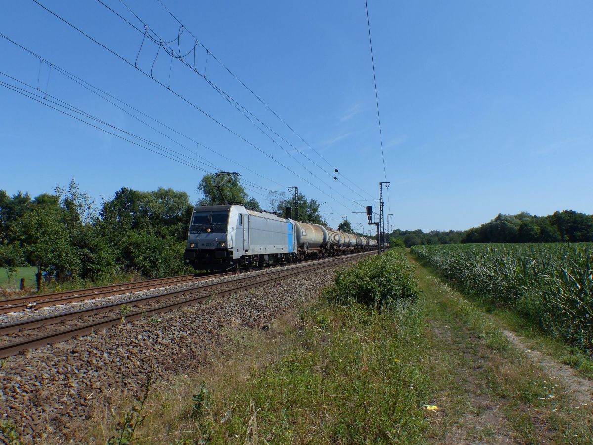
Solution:
{"label": "rounded leafy green bush on the grass beside the gravel bank", "polygon": [[361,303],[382,310],[398,300],[414,300],[418,291],[404,253],[391,249],[340,271],[329,298],[338,304]]}

